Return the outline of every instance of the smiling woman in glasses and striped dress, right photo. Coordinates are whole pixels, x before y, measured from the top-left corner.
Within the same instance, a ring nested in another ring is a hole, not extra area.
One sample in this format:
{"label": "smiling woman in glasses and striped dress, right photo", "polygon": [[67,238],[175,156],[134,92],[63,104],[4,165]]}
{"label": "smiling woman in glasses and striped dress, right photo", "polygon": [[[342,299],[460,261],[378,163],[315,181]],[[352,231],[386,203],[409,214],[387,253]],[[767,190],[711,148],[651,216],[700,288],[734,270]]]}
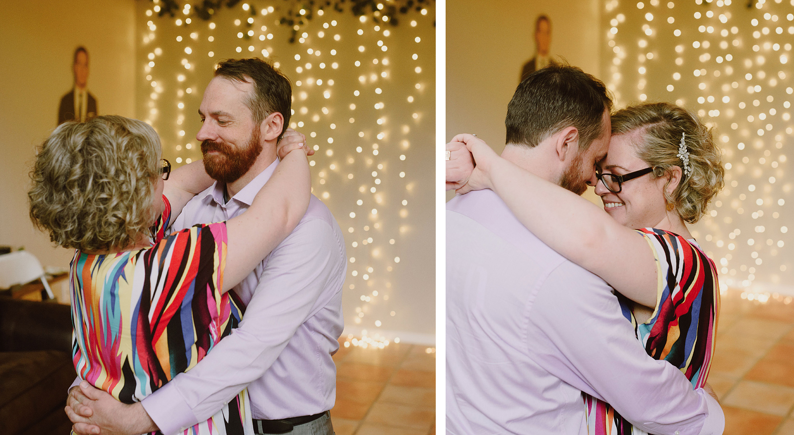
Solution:
{"label": "smiling woman in glasses and striped dress, right photo", "polygon": [[[675,365],[692,387],[703,387],[714,352],[719,285],[714,261],[687,223],[696,223],[722,189],[722,153],[703,122],[676,105],[634,105],[611,122],[609,151],[596,173],[603,210],[500,158],[472,135],[457,135],[448,149],[464,143],[476,167],[468,181],[468,174],[449,172],[447,181],[465,183],[458,193],[499,194],[542,242],[619,292],[623,314],[651,357]],[[455,155],[449,168],[469,157]],[[574,169],[583,177],[592,170]],[[584,395],[584,405],[588,433],[644,433],[608,403]]]}

